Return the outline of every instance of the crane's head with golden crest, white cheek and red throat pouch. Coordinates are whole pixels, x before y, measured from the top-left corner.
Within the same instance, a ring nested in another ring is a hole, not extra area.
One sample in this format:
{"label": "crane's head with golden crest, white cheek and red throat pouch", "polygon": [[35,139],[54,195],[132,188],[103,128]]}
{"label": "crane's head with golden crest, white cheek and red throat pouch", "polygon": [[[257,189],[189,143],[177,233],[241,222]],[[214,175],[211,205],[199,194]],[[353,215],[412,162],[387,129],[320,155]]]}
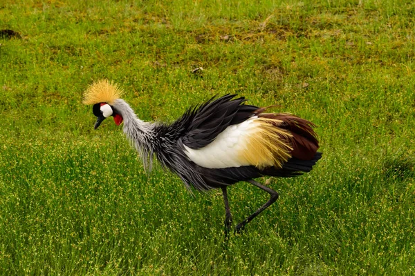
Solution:
{"label": "crane's head with golden crest, white cheek and red throat pouch", "polygon": [[116,99],[120,99],[122,91],[114,83],[109,82],[107,79],[95,81],[84,92],[84,103],[93,104],[93,115],[97,117],[94,128],[98,126],[108,117],[113,117],[116,125],[119,126],[122,123],[122,115],[113,106]]}

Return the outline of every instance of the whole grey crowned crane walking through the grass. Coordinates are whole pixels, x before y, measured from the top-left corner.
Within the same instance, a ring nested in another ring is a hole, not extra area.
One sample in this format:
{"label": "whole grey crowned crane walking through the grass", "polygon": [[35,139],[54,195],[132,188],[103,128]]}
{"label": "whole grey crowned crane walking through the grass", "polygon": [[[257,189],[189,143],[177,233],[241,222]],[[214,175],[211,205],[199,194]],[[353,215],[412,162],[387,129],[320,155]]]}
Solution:
{"label": "whole grey crowned crane walking through the grass", "polygon": [[117,83],[101,79],[84,91],[83,103],[93,106],[96,130],[113,117],[150,171],[154,157],[192,190],[221,189],[225,233],[232,230],[228,188],[245,181],[270,195],[268,201],[234,227],[241,233],[252,219],[277,201],[261,177],[296,177],[310,172],[322,157],[315,124],[291,113],[266,112],[248,105],[245,97],[223,95],[188,108],[172,123],[138,118]]}

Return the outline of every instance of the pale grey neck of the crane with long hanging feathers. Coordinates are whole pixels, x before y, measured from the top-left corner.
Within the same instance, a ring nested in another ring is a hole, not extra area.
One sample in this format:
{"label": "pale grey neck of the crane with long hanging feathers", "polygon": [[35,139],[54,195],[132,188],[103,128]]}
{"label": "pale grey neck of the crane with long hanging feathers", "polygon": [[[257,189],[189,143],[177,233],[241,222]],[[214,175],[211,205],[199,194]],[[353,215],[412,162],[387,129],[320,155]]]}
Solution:
{"label": "pale grey neck of the crane with long hanging feathers", "polygon": [[150,172],[154,156],[155,124],[138,119],[136,113],[123,99],[116,99],[113,107],[120,112],[124,120],[124,128],[122,128],[124,134],[140,154],[145,169]]}

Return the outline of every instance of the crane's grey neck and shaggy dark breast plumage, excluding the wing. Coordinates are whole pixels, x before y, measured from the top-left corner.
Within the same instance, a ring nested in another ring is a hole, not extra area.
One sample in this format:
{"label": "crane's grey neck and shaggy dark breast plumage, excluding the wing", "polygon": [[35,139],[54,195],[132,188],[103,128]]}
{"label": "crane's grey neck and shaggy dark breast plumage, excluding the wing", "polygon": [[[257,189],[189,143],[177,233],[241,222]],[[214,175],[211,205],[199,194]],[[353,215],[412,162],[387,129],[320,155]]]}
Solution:
{"label": "crane's grey neck and shaggy dark breast plumage, excluding the wing", "polygon": [[123,99],[117,99],[113,103],[113,108],[118,110],[124,118],[124,134],[138,151],[147,171],[151,171],[154,155],[156,155],[160,164],[176,173],[189,190],[194,188],[203,191],[228,185],[225,181],[208,177],[209,174],[203,173],[205,172],[203,168],[194,164],[185,155],[182,139],[189,126],[192,127],[192,119],[195,117],[196,110],[189,110],[173,124],[163,124],[138,119]]}

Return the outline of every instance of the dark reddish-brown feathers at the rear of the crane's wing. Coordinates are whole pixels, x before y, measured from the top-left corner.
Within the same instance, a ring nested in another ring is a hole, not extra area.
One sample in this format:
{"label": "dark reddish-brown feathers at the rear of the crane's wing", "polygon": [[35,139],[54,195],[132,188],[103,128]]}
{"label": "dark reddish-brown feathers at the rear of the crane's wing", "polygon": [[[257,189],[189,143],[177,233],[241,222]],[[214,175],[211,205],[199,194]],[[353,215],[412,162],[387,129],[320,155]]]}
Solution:
{"label": "dark reddish-brown feathers at the rear of the crane's wing", "polygon": [[[261,111],[264,111],[264,109]],[[293,146],[291,151],[293,157],[302,160],[314,158],[319,146],[317,135],[313,130],[315,125],[311,121],[286,113],[259,113],[257,116],[282,121],[282,124],[279,123],[276,126],[291,133],[292,137],[288,137],[288,140]]]}

